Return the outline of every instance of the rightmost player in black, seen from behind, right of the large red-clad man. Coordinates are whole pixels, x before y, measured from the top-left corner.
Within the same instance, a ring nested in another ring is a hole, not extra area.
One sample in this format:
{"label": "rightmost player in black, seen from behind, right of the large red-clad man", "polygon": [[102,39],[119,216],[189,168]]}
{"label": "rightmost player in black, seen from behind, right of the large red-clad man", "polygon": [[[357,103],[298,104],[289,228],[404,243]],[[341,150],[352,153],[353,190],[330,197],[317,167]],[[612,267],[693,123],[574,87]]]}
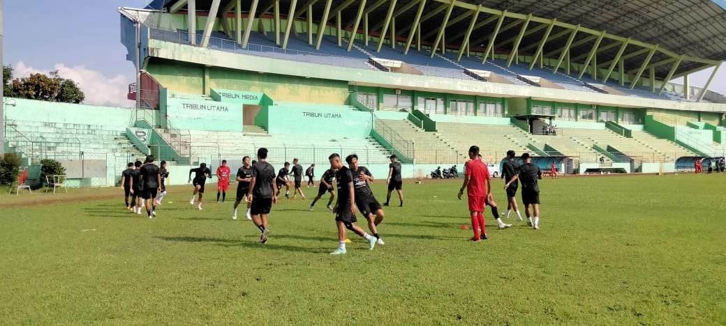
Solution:
{"label": "rightmost player in black, seen from behind, right of the large red-clad man", "polygon": [[[520,180],[522,183],[522,203],[524,204],[524,212],[527,215],[527,224],[539,230],[539,185],[537,180],[542,179],[542,171],[536,164],[532,164],[532,157],[529,153],[522,154],[522,164],[519,172],[510,180],[504,188],[509,187],[511,183]],[[529,207],[532,207],[530,212]],[[532,215],[534,214],[534,219]]]}

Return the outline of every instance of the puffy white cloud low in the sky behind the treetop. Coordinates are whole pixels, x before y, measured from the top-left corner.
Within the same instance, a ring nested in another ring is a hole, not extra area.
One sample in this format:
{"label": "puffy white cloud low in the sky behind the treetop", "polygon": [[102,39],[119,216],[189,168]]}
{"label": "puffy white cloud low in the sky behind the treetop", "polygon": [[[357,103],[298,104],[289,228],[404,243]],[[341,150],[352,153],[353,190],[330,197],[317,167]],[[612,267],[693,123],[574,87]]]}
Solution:
{"label": "puffy white cloud low in the sky behind the treetop", "polygon": [[[28,77],[32,73],[48,73],[51,70],[39,70],[35,67],[26,66],[25,62],[18,61],[13,66],[13,78]],[[62,78],[74,80],[81,91],[86,95],[84,104],[107,105],[107,106],[134,106],[134,101],[126,99],[129,91],[129,83],[133,82],[124,75],[106,77],[98,70],[92,70],[84,66],[68,67],[65,64],[57,63],[52,70],[58,70]]]}

